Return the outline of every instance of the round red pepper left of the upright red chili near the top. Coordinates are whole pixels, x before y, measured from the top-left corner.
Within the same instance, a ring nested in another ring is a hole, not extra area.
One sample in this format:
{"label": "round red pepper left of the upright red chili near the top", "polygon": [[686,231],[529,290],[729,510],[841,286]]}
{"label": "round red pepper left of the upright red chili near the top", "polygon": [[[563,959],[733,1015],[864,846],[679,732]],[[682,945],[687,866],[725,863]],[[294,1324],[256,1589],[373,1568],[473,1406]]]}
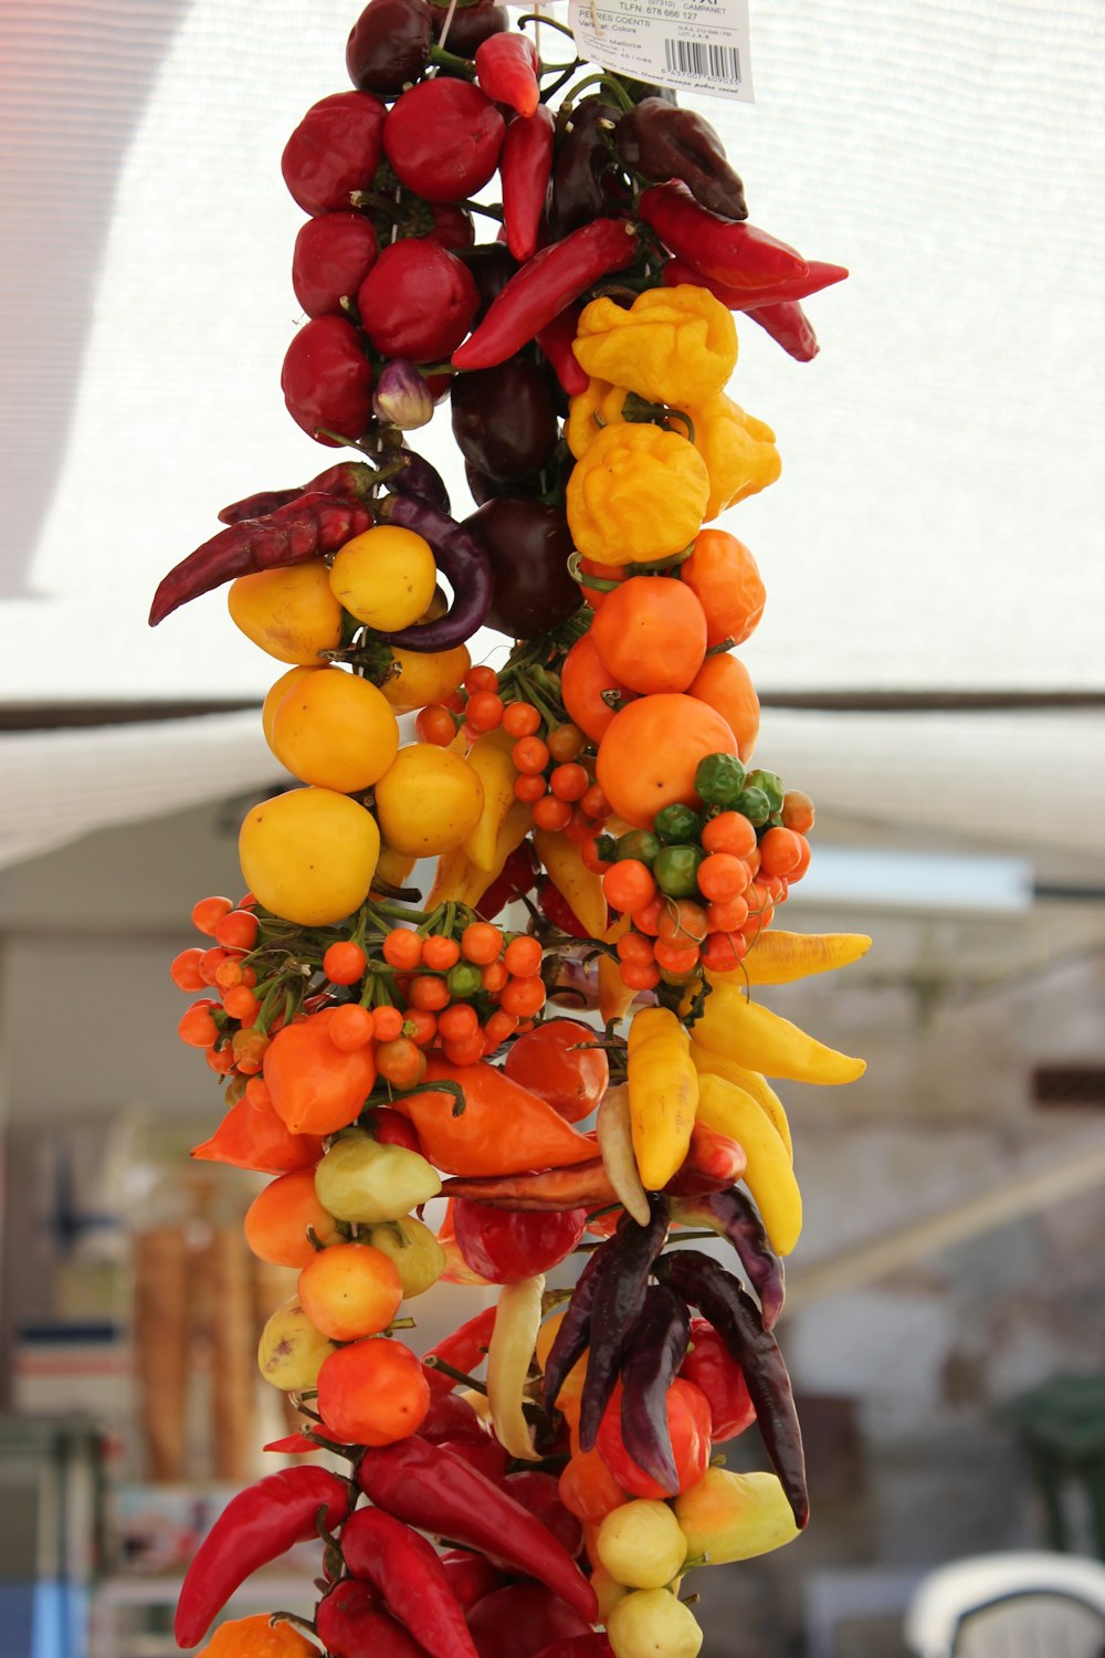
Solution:
{"label": "round red pepper left of the upright red chili near the top", "polygon": [[487,184],[505,133],[495,104],[470,81],[437,76],[391,106],[384,149],[396,177],[427,202],[456,202]]}

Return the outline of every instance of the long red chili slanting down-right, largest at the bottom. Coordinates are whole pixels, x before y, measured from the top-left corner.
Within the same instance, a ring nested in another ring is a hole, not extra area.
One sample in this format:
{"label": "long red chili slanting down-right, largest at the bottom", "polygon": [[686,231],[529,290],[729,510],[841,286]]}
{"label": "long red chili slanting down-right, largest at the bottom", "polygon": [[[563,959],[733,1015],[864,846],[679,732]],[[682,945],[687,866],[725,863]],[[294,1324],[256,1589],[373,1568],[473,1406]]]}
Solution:
{"label": "long red chili slanting down-right, largest at the bottom", "polygon": [[552,1532],[452,1451],[413,1434],[369,1447],[356,1477],[361,1491],[388,1514],[494,1555],[545,1583],[588,1623],[596,1622],[595,1590]]}

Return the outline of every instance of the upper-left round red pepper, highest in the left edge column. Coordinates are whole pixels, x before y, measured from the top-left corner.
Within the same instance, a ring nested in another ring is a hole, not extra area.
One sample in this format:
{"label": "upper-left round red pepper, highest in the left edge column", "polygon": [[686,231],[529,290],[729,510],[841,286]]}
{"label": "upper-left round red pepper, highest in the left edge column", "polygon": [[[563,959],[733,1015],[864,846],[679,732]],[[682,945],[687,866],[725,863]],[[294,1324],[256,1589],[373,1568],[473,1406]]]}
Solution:
{"label": "upper-left round red pepper, highest in the left edge column", "polygon": [[333,93],[311,104],[280,161],[283,182],[303,212],[348,207],[379,166],[388,109],[371,93]]}

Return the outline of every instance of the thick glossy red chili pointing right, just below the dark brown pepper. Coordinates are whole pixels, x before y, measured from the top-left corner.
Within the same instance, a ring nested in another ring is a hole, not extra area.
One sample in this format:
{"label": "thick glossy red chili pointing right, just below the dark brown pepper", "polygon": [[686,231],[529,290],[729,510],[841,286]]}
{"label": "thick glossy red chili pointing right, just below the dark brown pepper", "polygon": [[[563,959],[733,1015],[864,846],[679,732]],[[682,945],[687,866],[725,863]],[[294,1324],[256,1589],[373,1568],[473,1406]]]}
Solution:
{"label": "thick glossy red chili pointing right, just below the dark brown pepper", "polygon": [[638,212],[669,252],[746,293],[805,277],[810,269],[794,247],[767,230],[699,207],[678,181],[644,191]]}

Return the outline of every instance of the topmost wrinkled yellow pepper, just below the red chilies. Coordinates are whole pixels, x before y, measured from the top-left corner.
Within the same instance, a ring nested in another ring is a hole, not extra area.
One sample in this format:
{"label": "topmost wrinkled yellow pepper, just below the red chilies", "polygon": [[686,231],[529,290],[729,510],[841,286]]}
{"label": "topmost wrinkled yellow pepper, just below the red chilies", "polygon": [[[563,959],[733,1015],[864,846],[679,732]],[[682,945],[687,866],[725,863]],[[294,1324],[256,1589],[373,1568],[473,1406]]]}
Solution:
{"label": "topmost wrinkled yellow pepper, just below the red chilies", "polygon": [[648,288],[626,310],[591,300],[573,351],[595,380],[628,386],[653,403],[702,403],[727,383],[737,363],[737,330],[707,288]]}

